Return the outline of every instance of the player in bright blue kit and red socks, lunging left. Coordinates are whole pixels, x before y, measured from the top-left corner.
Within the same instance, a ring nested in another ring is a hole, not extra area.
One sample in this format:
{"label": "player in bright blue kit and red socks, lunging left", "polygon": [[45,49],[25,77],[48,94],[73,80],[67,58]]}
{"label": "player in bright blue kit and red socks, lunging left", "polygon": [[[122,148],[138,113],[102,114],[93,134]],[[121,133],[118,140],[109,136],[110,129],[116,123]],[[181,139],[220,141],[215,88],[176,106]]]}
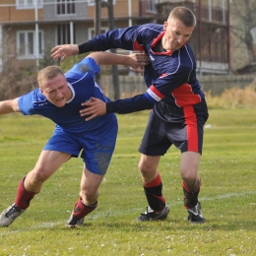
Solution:
{"label": "player in bright blue kit and red socks, lunging left", "polygon": [[18,186],[14,204],[0,215],[0,226],[8,226],[25,212],[42,184],[65,161],[72,157],[84,160],[79,199],[67,226],[83,224],[85,217],[97,206],[98,187],[111,160],[117,135],[117,121],[113,113],[85,122],[80,110],[82,102],[92,96],[106,102],[95,82],[100,64],[128,65],[137,72],[148,64],[145,54],[118,55],[95,52],[74,65],[63,74],[58,66],[48,66],[39,71],[39,88],[15,99],[0,101],[0,114],[22,112],[38,114],[52,120],[56,125],[53,135],[44,146],[35,166]]}

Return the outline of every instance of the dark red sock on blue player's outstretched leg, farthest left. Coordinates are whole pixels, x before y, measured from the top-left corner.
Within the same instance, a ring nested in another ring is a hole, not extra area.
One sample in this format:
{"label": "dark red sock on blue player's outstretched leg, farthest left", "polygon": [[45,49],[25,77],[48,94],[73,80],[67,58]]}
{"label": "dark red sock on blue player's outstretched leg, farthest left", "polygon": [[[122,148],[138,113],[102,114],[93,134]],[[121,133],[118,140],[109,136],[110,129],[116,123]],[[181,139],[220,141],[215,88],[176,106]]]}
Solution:
{"label": "dark red sock on blue player's outstretched leg, farthest left", "polygon": [[15,199],[15,205],[20,209],[27,209],[30,206],[33,196],[36,194],[34,192],[30,192],[25,189],[24,187],[25,178],[26,176],[20,181],[16,199]]}

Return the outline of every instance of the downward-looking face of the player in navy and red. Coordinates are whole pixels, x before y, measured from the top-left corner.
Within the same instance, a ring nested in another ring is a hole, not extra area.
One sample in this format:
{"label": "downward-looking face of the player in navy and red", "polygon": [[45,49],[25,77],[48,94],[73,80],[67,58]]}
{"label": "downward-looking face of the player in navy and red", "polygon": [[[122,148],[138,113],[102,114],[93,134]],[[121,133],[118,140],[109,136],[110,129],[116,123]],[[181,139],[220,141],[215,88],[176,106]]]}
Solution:
{"label": "downward-looking face of the player in navy and red", "polygon": [[191,36],[194,27],[187,28],[178,19],[170,18],[163,24],[165,31],[162,37],[162,47],[166,50],[178,50]]}

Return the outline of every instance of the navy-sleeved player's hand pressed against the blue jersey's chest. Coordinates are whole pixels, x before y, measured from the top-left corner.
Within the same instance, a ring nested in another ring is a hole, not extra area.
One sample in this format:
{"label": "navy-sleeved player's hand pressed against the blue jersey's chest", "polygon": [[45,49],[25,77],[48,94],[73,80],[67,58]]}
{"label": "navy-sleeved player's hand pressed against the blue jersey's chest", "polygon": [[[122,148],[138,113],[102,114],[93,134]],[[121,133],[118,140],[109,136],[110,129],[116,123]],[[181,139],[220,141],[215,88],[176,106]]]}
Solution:
{"label": "navy-sleeved player's hand pressed against the blue jersey's chest", "polygon": [[91,97],[90,101],[82,103],[83,106],[87,106],[86,108],[80,110],[81,116],[90,115],[86,118],[86,121],[90,121],[96,116],[103,115],[106,113],[106,105],[105,102],[99,98]]}

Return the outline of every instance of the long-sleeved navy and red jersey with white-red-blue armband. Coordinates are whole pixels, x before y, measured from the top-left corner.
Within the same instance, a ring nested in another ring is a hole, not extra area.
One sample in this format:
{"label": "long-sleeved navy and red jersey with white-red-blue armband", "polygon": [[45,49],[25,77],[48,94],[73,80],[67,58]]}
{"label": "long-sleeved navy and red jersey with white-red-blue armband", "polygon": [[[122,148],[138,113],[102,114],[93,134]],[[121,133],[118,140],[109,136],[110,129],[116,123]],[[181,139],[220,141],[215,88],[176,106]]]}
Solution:
{"label": "long-sleeved navy and red jersey with white-red-blue armband", "polygon": [[93,51],[122,48],[145,51],[151,64],[145,67],[148,87],[144,95],[107,102],[108,112],[129,113],[149,109],[157,102],[184,107],[201,102],[204,93],[196,78],[196,61],[191,47],[176,51],[154,51],[163,36],[163,26],[146,24],[96,35],[89,41]]}

